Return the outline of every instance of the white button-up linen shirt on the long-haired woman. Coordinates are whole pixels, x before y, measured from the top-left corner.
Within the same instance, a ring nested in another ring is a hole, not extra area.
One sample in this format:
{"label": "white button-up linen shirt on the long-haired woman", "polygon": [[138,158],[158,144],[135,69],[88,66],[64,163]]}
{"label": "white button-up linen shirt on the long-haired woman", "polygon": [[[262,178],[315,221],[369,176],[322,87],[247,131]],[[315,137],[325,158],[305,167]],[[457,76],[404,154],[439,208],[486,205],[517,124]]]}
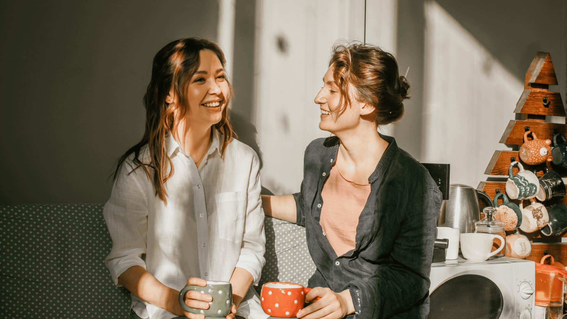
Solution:
{"label": "white button-up linen shirt on the long-haired woman", "polygon": [[[264,266],[264,212],[260,199],[260,165],[249,146],[232,139],[221,157],[221,135],[198,167],[171,134],[167,155],[174,174],[165,183],[167,205],[141,167],[133,170],[130,156],[120,167],[104,219],[112,237],[105,259],[116,286],[132,266],[146,268],[164,285],[181,290],[189,277],[229,281],[235,267],[250,272],[258,284]],[[147,162],[147,145],[141,159]],[[141,318],[170,319],[175,314],[132,295]],[[237,310],[245,318],[267,318],[250,287]]]}

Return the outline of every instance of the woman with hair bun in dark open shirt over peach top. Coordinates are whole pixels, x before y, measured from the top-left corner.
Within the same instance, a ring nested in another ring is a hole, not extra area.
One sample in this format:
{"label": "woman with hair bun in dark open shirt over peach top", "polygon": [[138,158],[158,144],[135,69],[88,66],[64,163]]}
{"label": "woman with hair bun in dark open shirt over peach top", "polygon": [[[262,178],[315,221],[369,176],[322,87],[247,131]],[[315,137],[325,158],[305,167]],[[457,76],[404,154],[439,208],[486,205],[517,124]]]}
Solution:
{"label": "woman with hair bun in dark open shirt over peach top", "polygon": [[[335,45],[315,96],[318,138],[301,190],[262,196],[268,216],[306,228],[316,265],[301,319],[426,318],[441,192],[428,171],[378,128],[399,120],[409,83],[392,54]],[[320,297],[320,300],[316,300]]]}

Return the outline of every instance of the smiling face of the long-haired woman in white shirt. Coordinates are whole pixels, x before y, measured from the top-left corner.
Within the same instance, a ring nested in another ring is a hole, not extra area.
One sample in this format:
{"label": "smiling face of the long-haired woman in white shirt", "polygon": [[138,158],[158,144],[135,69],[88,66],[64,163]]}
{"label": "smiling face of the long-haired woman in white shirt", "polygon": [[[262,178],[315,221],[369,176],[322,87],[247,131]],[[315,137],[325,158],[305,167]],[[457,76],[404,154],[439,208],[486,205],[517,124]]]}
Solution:
{"label": "smiling face of the long-haired woman in white shirt", "polygon": [[211,126],[222,119],[229,98],[229,83],[217,55],[208,49],[199,52],[199,66],[187,86],[189,125]]}

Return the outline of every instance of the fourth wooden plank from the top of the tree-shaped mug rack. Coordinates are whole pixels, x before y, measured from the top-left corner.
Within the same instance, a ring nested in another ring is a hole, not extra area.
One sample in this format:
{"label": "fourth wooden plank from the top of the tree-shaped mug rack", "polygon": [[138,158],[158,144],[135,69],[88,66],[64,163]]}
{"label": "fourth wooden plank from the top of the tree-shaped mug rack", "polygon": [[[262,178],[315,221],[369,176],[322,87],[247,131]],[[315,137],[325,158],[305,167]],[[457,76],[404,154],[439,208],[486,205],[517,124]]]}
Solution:
{"label": "fourth wooden plank from the top of the tree-shaped mug rack", "polygon": [[[522,163],[522,166],[524,167],[525,170],[533,171],[536,166],[527,165],[526,163],[522,162],[520,160],[518,153],[519,153],[518,151],[514,151],[514,150],[495,150],[494,154],[492,154],[492,158],[490,159],[490,162],[488,163],[488,166],[486,166],[486,170],[484,171],[484,174],[508,176],[508,167],[510,167],[511,157],[515,157],[516,161]],[[556,171],[559,175],[561,175],[561,177],[567,178],[567,169],[564,169],[563,167],[560,166],[556,166],[552,162],[545,162],[545,165],[549,170]],[[537,167],[542,168],[543,164],[540,164]],[[518,166],[512,167],[512,173],[513,174],[518,173]],[[538,175],[538,177],[541,177],[543,173],[544,173],[543,170],[539,170],[536,173],[536,175]]]}

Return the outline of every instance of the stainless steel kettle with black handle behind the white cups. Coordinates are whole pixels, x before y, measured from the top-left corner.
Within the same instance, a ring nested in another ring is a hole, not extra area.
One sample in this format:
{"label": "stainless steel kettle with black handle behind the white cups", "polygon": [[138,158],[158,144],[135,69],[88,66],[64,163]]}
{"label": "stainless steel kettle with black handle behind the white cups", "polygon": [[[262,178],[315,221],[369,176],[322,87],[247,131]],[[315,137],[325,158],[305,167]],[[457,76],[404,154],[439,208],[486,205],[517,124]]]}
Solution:
{"label": "stainless steel kettle with black handle behind the white cups", "polygon": [[480,220],[479,199],[486,206],[492,206],[492,200],[485,192],[463,184],[451,184],[449,199],[441,204],[437,226],[459,228],[460,233],[474,233],[475,222]]}

